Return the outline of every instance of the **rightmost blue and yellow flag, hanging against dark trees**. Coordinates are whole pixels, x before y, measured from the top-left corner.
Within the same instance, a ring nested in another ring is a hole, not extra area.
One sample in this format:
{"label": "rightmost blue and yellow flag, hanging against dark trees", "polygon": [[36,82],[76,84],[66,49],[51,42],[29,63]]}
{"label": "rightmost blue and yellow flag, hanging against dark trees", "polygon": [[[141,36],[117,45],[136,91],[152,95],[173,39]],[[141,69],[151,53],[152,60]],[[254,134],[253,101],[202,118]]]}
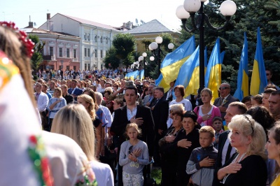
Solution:
{"label": "rightmost blue and yellow flag, hanging against dark trees", "polygon": [[251,95],[261,94],[267,86],[267,76],[265,74],[265,61],[262,56],[262,40],[260,38],[260,27],[257,34],[257,48],[255,50],[255,59],[253,63],[253,73],[251,78]]}

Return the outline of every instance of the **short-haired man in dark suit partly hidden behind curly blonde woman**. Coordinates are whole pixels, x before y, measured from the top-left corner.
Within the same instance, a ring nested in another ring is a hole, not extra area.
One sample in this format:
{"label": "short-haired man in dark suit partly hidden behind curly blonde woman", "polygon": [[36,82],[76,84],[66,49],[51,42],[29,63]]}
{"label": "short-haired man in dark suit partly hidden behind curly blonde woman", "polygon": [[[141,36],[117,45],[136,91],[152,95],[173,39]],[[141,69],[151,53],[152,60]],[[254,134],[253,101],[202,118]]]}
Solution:
{"label": "short-haired man in dark suit partly hidden behind curly blonde woman", "polygon": [[[232,117],[235,115],[241,115],[246,113],[247,107],[244,103],[235,101],[230,103],[228,106],[228,109],[226,110],[225,114],[225,122],[228,126],[230,121],[232,120]],[[216,159],[215,168],[216,171],[214,173],[214,180],[213,180],[213,186],[221,185],[220,181],[217,178],[218,169],[221,169],[221,166],[225,164],[225,162],[230,159],[230,157],[236,152],[235,148],[232,148],[230,145],[230,140],[228,139],[228,134],[230,134],[230,131],[224,131],[220,136],[218,140],[218,157]]]}

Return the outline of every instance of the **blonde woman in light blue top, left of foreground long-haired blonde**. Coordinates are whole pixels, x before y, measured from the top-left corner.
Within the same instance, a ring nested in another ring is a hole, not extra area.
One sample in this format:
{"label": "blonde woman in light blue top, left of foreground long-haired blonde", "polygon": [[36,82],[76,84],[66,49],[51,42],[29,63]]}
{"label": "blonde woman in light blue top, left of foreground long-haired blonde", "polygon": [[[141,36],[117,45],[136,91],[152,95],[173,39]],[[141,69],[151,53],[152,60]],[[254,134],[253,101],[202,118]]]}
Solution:
{"label": "blonde woman in light blue top, left of foreground long-haired blonde", "polygon": [[62,96],[62,90],[57,87],[55,88],[55,92],[53,92],[53,97],[48,101],[48,117],[50,118],[49,127],[52,128],[52,120],[55,117],[57,111],[66,106],[66,100]]}

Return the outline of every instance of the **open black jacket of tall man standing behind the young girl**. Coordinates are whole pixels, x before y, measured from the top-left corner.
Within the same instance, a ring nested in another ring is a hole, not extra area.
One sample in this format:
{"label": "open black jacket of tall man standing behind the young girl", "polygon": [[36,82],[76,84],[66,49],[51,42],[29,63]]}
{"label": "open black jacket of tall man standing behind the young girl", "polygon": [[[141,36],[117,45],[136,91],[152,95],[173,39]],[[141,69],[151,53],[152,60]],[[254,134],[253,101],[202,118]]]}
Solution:
{"label": "open black jacket of tall man standing behind the young girl", "polygon": [[[139,125],[139,128],[142,131],[139,139],[144,141],[148,145],[148,152],[150,156],[153,156],[153,143],[155,140],[155,124],[153,122],[153,115],[151,109],[147,106],[137,105],[136,117],[142,117],[144,123]],[[111,125],[110,133],[113,136],[119,136],[120,145],[125,141],[125,127],[129,124],[130,121],[127,120],[127,106],[123,106],[115,110],[115,116]],[[119,147],[120,149],[120,147]]]}

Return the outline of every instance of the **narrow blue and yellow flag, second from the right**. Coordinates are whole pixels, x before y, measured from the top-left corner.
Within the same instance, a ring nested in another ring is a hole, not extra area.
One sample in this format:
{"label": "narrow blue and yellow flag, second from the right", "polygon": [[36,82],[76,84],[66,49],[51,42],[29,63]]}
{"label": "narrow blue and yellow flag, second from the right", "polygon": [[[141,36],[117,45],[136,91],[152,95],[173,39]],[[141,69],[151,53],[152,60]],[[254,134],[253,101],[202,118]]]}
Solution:
{"label": "narrow blue and yellow flag, second from the right", "polygon": [[244,32],[244,45],[241,53],[241,59],[239,63],[238,76],[237,76],[237,90],[235,96],[239,100],[242,100],[244,96],[249,95],[249,78],[248,78],[248,42],[246,32]]}

